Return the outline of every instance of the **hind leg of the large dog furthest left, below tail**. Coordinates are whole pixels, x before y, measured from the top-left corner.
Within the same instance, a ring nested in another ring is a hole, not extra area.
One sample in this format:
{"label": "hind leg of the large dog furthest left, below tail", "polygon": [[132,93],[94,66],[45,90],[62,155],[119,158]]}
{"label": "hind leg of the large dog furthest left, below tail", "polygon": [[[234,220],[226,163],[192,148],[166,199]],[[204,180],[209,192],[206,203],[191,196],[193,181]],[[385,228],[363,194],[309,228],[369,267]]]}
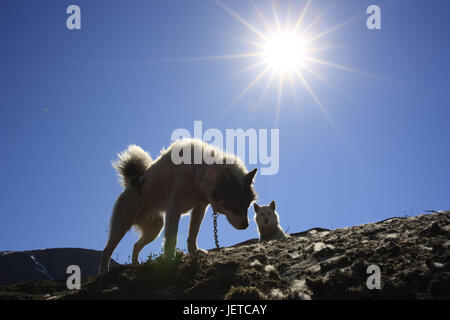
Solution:
{"label": "hind leg of the large dog furthest left, below tail", "polygon": [[125,190],[117,199],[111,216],[109,239],[102,254],[100,272],[109,270],[109,260],[114,249],[122,240],[125,233],[130,230],[133,220],[139,213],[138,199],[133,192]]}

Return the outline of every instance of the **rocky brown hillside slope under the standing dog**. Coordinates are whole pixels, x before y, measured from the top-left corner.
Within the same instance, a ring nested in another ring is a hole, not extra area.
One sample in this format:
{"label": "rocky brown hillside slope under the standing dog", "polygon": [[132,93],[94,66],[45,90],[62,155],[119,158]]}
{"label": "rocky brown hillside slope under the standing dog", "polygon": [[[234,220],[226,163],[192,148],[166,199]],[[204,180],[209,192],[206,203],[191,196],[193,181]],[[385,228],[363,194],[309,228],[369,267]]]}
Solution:
{"label": "rocky brown hillside slope under the standing dog", "polygon": [[[370,265],[380,268],[379,290],[367,288]],[[0,287],[0,297],[30,297],[21,295],[30,286]],[[450,299],[450,212],[312,229],[194,257],[179,252],[171,263],[119,266],[86,279],[78,291],[49,286],[31,298]]]}

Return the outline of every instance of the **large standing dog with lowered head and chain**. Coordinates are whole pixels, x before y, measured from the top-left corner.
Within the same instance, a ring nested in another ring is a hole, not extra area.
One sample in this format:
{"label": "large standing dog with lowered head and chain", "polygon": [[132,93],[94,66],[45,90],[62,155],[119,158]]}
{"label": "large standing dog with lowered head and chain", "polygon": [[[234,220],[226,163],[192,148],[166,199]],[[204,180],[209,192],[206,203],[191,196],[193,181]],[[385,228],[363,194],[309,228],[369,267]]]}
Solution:
{"label": "large standing dog with lowered head and chain", "polygon": [[[206,161],[205,155],[215,161]],[[198,139],[175,141],[155,161],[136,145],[130,145],[118,157],[113,166],[124,190],[114,205],[101,272],[109,269],[114,249],[132,226],[141,233],[133,248],[133,264],[138,263],[139,252],[159,236],[163,226],[164,255],[172,259],[180,217],[189,211],[189,254],[201,250],[197,235],[209,205],[224,214],[234,228],[247,229],[247,209],[256,197],[252,182],[257,169],[248,172],[238,157]],[[183,161],[175,163],[173,159],[180,157]]]}

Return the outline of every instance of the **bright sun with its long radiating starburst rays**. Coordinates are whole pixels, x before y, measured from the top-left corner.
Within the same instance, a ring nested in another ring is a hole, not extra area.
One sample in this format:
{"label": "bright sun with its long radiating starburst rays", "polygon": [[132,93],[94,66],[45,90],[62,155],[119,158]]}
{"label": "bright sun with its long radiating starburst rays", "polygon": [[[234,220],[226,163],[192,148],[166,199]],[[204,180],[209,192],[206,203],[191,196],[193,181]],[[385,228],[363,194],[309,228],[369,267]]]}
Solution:
{"label": "bright sun with its long radiating starburst rays", "polygon": [[[262,92],[259,101],[261,102],[266,93],[272,86],[277,88],[277,104],[276,104],[276,114],[275,122],[278,121],[278,114],[281,107],[281,100],[283,95],[283,88],[286,84],[290,84],[290,88],[297,99],[297,89],[296,83],[299,82],[303,88],[309,93],[311,98],[314,100],[315,104],[322,113],[325,115],[327,120],[333,124],[332,119],[328,115],[325,107],[320,102],[318,96],[315,94],[313,88],[309,84],[306,75],[312,76],[321,82],[330,85],[326,79],[314,70],[314,65],[319,64],[321,66],[334,68],[342,71],[355,72],[363,74],[362,72],[335,64],[323,59],[319,59],[317,56],[318,51],[328,50],[333,48],[329,45],[318,45],[317,40],[321,39],[332,32],[348,25],[352,21],[358,19],[358,17],[351,18],[344,21],[341,24],[335,25],[329,29],[323,30],[320,28],[320,21],[323,17],[322,14],[313,17],[309,24],[305,23],[305,16],[311,5],[312,0],[307,0],[303,6],[299,15],[292,20],[292,13],[290,12],[291,7],[288,7],[286,19],[281,19],[277,4],[275,1],[272,3],[272,14],[273,23],[271,23],[262,11],[255,5],[253,1],[254,10],[257,13],[260,21],[264,25],[262,28],[256,28],[250,22],[242,18],[239,14],[228,8],[220,0],[215,0],[215,2],[227,11],[231,16],[243,24],[247,29],[249,29],[256,38],[244,39],[240,37],[235,37],[237,40],[243,41],[250,44],[256,49],[246,53],[240,54],[229,54],[222,56],[212,56],[203,57],[199,59],[251,59],[254,61],[253,64],[248,65],[246,68],[241,70],[237,74],[242,74],[245,72],[253,71],[255,69],[260,69],[256,76],[250,81],[250,83],[243,88],[243,90],[234,99],[231,105],[234,105],[239,99],[241,99],[245,94],[247,94],[252,88],[254,88],[258,83],[262,82],[262,79],[266,79],[266,84],[263,85]],[[319,25],[319,27],[318,27]],[[315,32],[314,32],[314,29]],[[197,59],[196,59],[197,60]]]}

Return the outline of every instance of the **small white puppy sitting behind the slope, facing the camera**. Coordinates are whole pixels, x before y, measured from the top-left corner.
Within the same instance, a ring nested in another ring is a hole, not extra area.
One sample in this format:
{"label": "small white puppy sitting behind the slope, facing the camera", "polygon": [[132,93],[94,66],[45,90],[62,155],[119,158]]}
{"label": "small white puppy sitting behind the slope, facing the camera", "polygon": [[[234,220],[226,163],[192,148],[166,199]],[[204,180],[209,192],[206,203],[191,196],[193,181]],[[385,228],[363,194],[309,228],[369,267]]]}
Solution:
{"label": "small white puppy sitting behind the slope, facing the camera", "polygon": [[279,225],[279,216],[275,211],[275,201],[268,206],[253,204],[255,209],[255,221],[258,226],[259,242],[285,239],[286,234]]}

